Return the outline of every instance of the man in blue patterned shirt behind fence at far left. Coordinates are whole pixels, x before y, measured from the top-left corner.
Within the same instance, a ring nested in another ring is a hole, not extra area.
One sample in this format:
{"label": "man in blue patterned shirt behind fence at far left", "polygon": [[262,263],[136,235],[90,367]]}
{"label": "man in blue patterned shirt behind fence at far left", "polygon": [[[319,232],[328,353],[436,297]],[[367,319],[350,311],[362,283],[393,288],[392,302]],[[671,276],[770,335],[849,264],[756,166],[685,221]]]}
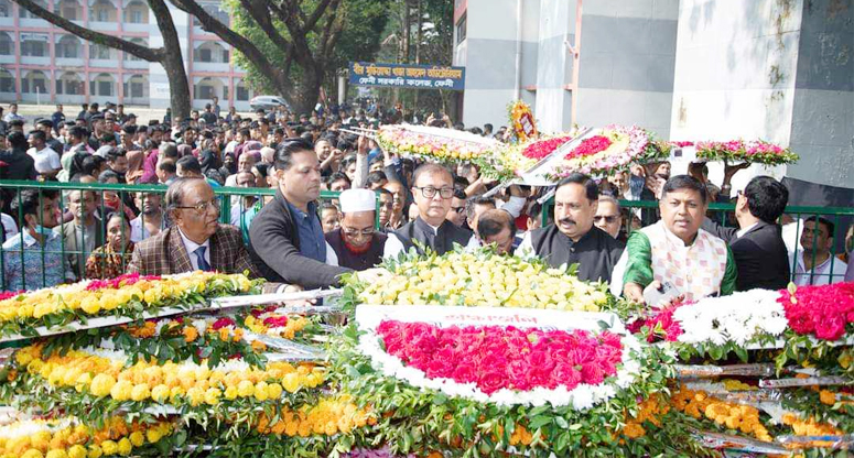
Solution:
{"label": "man in blue patterned shirt behind fence at far left", "polygon": [[54,189],[23,189],[12,200],[12,215],[20,216],[21,232],[3,243],[3,288],[37,290],[73,281],[64,262],[62,236],[51,228],[60,221]]}

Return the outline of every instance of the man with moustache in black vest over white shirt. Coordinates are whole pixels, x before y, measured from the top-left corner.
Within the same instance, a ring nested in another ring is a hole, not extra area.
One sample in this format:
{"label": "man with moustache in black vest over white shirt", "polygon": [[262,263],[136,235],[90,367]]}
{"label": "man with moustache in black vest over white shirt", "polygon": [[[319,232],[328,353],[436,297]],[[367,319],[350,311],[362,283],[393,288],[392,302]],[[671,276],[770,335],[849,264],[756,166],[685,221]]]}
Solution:
{"label": "man with moustache in black vest over white shirt", "polygon": [[599,189],[590,176],[573,173],[558,183],[554,223],[525,236],[517,254],[536,254],[549,265],[579,264],[579,279],[610,282],[623,247],[593,223]]}

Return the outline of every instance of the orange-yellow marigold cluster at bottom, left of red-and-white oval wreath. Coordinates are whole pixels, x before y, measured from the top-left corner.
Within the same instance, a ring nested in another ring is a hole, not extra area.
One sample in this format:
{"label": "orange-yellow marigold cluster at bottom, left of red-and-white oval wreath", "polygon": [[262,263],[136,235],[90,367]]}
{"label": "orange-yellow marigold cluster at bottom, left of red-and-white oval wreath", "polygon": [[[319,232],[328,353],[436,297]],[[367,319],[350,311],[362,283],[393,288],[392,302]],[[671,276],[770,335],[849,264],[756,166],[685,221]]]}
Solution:
{"label": "orange-yellow marigold cluster at bottom, left of red-and-white oval wreath", "polygon": [[313,434],[333,436],[377,423],[376,416],[369,408],[356,407],[347,395],[324,399],[317,405],[304,405],[295,412],[283,407],[279,418],[278,422],[270,424],[270,418],[261,414],[258,419],[258,432],[290,437],[307,437]]}

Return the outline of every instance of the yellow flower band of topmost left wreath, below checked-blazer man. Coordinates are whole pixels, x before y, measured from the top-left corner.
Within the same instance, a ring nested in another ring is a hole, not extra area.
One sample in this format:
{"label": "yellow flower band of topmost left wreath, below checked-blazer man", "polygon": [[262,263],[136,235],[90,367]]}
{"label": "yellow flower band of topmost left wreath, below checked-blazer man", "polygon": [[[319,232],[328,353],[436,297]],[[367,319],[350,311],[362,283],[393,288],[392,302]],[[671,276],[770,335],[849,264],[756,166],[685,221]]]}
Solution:
{"label": "yellow flower band of topmost left wreath, below checked-blazer man", "polygon": [[214,272],[195,272],[162,280],[140,280],[120,288],[95,291],[86,290],[85,283],[77,283],[0,301],[0,323],[37,319],[66,310],[97,315],[101,310],[109,312],[123,307],[134,297],[144,301],[148,305],[160,305],[164,299],[180,298],[192,293],[204,294],[207,283],[212,281],[236,281],[239,292],[242,293],[252,287],[252,283],[244,274],[226,275]]}

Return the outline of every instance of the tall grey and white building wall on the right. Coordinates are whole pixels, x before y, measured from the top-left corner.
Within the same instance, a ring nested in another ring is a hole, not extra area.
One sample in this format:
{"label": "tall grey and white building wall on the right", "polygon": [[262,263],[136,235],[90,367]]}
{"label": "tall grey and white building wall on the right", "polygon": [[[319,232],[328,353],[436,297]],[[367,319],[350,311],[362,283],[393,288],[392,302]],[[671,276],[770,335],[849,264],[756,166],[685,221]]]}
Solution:
{"label": "tall grey and white building wall on the right", "polygon": [[792,204],[854,199],[851,0],[455,0],[454,19],[467,127],[506,124],[522,99],[544,132],[761,139],[801,160],[737,181],[786,176]]}

